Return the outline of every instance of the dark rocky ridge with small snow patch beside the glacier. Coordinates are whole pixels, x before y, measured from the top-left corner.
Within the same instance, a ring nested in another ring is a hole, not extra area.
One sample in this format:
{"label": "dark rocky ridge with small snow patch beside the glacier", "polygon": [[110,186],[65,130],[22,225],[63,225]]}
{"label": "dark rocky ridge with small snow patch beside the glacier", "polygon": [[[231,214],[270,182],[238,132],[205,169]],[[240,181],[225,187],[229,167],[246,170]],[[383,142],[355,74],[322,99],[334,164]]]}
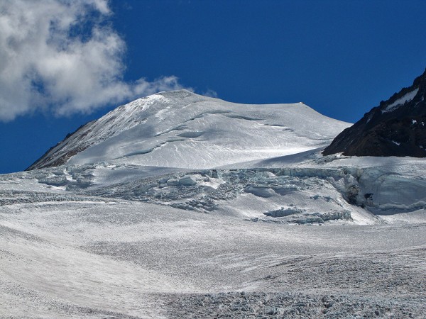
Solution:
{"label": "dark rocky ridge with small snow patch beside the glacier", "polygon": [[324,155],[426,157],[426,71],[334,138]]}

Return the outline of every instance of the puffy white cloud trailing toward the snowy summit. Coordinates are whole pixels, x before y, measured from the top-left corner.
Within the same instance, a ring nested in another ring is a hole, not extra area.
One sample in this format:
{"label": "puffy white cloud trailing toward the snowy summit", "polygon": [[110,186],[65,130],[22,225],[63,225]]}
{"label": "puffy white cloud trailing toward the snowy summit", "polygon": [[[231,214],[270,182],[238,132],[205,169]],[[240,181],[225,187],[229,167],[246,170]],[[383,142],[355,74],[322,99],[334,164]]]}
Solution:
{"label": "puffy white cloud trailing toward the snowy summit", "polygon": [[126,44],[110,14],[107,0],[1,0],[0,120],[41,109],[89,113],[182,88],[176,77],[123,81]]}

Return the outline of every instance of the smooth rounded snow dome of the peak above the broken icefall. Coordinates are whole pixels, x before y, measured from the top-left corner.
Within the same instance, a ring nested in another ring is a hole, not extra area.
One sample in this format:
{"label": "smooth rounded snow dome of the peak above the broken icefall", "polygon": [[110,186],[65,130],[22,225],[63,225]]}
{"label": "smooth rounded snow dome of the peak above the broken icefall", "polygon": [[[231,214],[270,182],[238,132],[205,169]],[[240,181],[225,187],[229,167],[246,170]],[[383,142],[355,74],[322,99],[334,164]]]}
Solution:
{"label": "smooth rounded snow dome of the peak above the broken icefall", "polygon": [[303,103],[247,105],[169,91],[84,125],[30,169],[65,162],[211,168],[324,147],[348,126]]}

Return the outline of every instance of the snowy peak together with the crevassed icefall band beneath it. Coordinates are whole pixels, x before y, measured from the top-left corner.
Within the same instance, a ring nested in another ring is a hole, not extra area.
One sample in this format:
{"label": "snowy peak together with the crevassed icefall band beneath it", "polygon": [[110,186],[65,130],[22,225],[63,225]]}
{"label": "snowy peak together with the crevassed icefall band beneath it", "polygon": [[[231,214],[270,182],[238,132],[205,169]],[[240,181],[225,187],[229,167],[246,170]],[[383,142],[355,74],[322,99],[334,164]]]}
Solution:
{"label": "snowy peak together with the crevassed icefall band beneath it", "polygon": [[82,126],[25,179],[35,179],[39,191],[283,223],[376,223],[371,212],[421,211],[424,162],[320,155],[349,125],[303,103],[247,105],[161,92]]}

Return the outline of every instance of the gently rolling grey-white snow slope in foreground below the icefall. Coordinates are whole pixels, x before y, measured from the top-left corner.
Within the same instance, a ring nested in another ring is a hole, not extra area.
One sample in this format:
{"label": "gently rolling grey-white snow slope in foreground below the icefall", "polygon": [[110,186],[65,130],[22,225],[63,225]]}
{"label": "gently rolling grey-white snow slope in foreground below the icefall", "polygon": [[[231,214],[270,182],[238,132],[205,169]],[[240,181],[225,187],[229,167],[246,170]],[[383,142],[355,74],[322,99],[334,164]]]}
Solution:
{"label": "gently rolling grey-white snow slope in foreground below the icefall", "polygon": [[0,206],[0,317],[424,318],[425,230],[134,201]]}

